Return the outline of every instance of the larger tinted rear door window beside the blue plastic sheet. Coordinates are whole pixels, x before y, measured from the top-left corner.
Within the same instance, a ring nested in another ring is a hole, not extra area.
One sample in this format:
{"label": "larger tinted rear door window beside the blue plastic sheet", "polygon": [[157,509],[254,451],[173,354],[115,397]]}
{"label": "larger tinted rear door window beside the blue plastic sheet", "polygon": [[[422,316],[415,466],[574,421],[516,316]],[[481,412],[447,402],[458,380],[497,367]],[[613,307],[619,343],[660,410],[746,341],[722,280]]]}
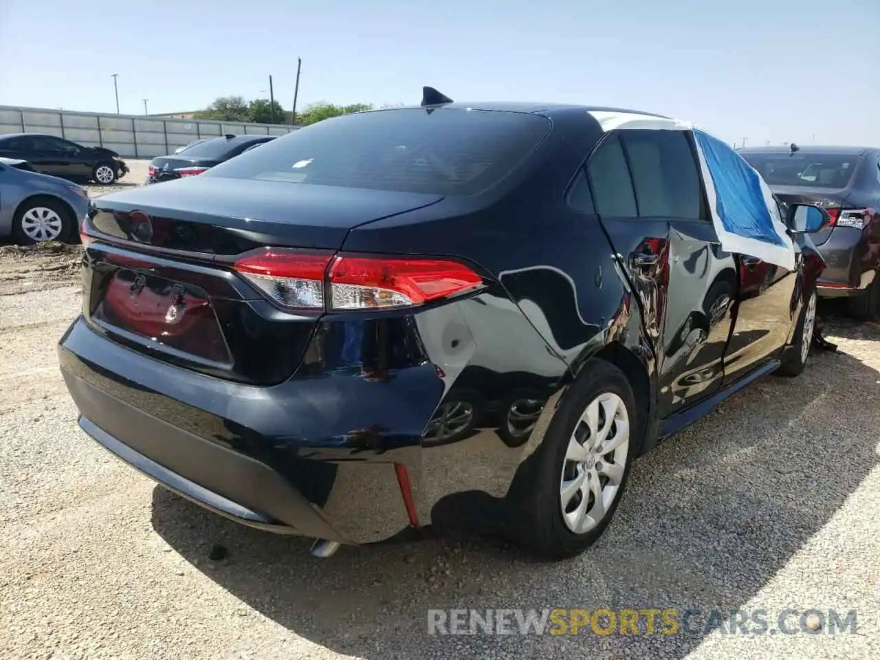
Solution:
{"label": "larger tinted rear door window beside the blue plastic sheet", "polygon": [[699,220],[702,187],[693,150],[678,130],[624,131],[640,217]]}

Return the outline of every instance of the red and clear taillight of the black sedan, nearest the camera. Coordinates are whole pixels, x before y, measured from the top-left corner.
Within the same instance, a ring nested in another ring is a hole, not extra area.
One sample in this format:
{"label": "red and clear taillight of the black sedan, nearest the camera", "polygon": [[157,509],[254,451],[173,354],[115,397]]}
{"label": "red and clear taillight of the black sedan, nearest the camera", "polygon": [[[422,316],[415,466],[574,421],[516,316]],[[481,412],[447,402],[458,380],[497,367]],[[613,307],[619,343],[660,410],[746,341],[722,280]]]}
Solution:
{"label": "red and clear taillight of the black sedan, nearest the camera", "polygon": [[234,268],[275,303],[305,310],[411,307],[473,290],[483,282],[458,261],[334,258],[289,248],[267,248],[238,260]]}

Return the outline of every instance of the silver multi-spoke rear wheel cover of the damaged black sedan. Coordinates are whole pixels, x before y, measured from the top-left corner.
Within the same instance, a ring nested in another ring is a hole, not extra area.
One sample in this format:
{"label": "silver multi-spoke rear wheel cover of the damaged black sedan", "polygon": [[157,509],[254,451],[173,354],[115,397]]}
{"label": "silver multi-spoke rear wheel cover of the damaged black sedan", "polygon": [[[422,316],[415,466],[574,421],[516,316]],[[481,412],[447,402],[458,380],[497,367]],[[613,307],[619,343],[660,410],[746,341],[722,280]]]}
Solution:
{"label": "silver multi-spoke rear wheel cover of the damaged black sedan", "polygon": [[629,453],[627,406],[614,392],[590,401],[568,439],[560,480],[562,519],[571,532],[596,527],[620,491]]}

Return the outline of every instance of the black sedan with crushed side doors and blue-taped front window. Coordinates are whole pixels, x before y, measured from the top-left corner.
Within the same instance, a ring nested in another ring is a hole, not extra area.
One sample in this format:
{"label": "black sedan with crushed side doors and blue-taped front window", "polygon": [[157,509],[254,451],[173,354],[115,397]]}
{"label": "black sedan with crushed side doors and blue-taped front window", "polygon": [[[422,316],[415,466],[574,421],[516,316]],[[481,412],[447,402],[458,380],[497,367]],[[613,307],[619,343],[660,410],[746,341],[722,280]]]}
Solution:
{"label": "black sedan with crushed side doors and blue-taped front window", "polygon": [[314,554],[457,517],[578,554],[634,458],[804,369],[828,214],[683,122],[428,92],[94,200],[63,377],[107,450]]}

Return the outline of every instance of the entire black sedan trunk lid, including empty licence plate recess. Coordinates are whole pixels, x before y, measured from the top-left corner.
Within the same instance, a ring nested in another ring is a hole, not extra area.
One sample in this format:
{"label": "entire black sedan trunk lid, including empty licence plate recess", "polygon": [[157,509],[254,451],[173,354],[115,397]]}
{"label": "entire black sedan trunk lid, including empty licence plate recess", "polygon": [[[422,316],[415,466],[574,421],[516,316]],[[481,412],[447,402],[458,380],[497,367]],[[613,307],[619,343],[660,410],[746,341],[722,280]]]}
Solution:
{"label": "entire black sedan trunk lid, including empty licence plate recess", "polygon": [[109,339],[254,385],[297,369],[320,313],[290,313],[232,270],[264,246],[338,251],[358,224],[442,195],[194,178],[95,199],[83,312]]}

